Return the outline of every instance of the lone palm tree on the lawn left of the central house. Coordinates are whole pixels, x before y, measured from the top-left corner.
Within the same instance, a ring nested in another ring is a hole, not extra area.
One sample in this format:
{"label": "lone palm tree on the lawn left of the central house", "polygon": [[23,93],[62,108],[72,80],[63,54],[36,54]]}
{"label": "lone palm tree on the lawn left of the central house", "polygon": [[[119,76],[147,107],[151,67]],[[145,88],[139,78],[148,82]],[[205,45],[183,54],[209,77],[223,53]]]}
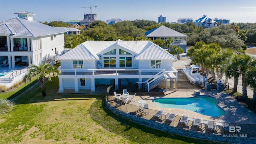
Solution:
{"label": "lone palm tree on the lawn left of the central house", "polygon": [[28,74],[24,76],[24,81],[26,82],[27,80],[31,80],[32,77],[38,76],[42,96],[46,96],[46,78],[51,81],[51,76],[56,76],[58,73],[57,68],[47,62],[43,62],[39,66],[30,65]]}

